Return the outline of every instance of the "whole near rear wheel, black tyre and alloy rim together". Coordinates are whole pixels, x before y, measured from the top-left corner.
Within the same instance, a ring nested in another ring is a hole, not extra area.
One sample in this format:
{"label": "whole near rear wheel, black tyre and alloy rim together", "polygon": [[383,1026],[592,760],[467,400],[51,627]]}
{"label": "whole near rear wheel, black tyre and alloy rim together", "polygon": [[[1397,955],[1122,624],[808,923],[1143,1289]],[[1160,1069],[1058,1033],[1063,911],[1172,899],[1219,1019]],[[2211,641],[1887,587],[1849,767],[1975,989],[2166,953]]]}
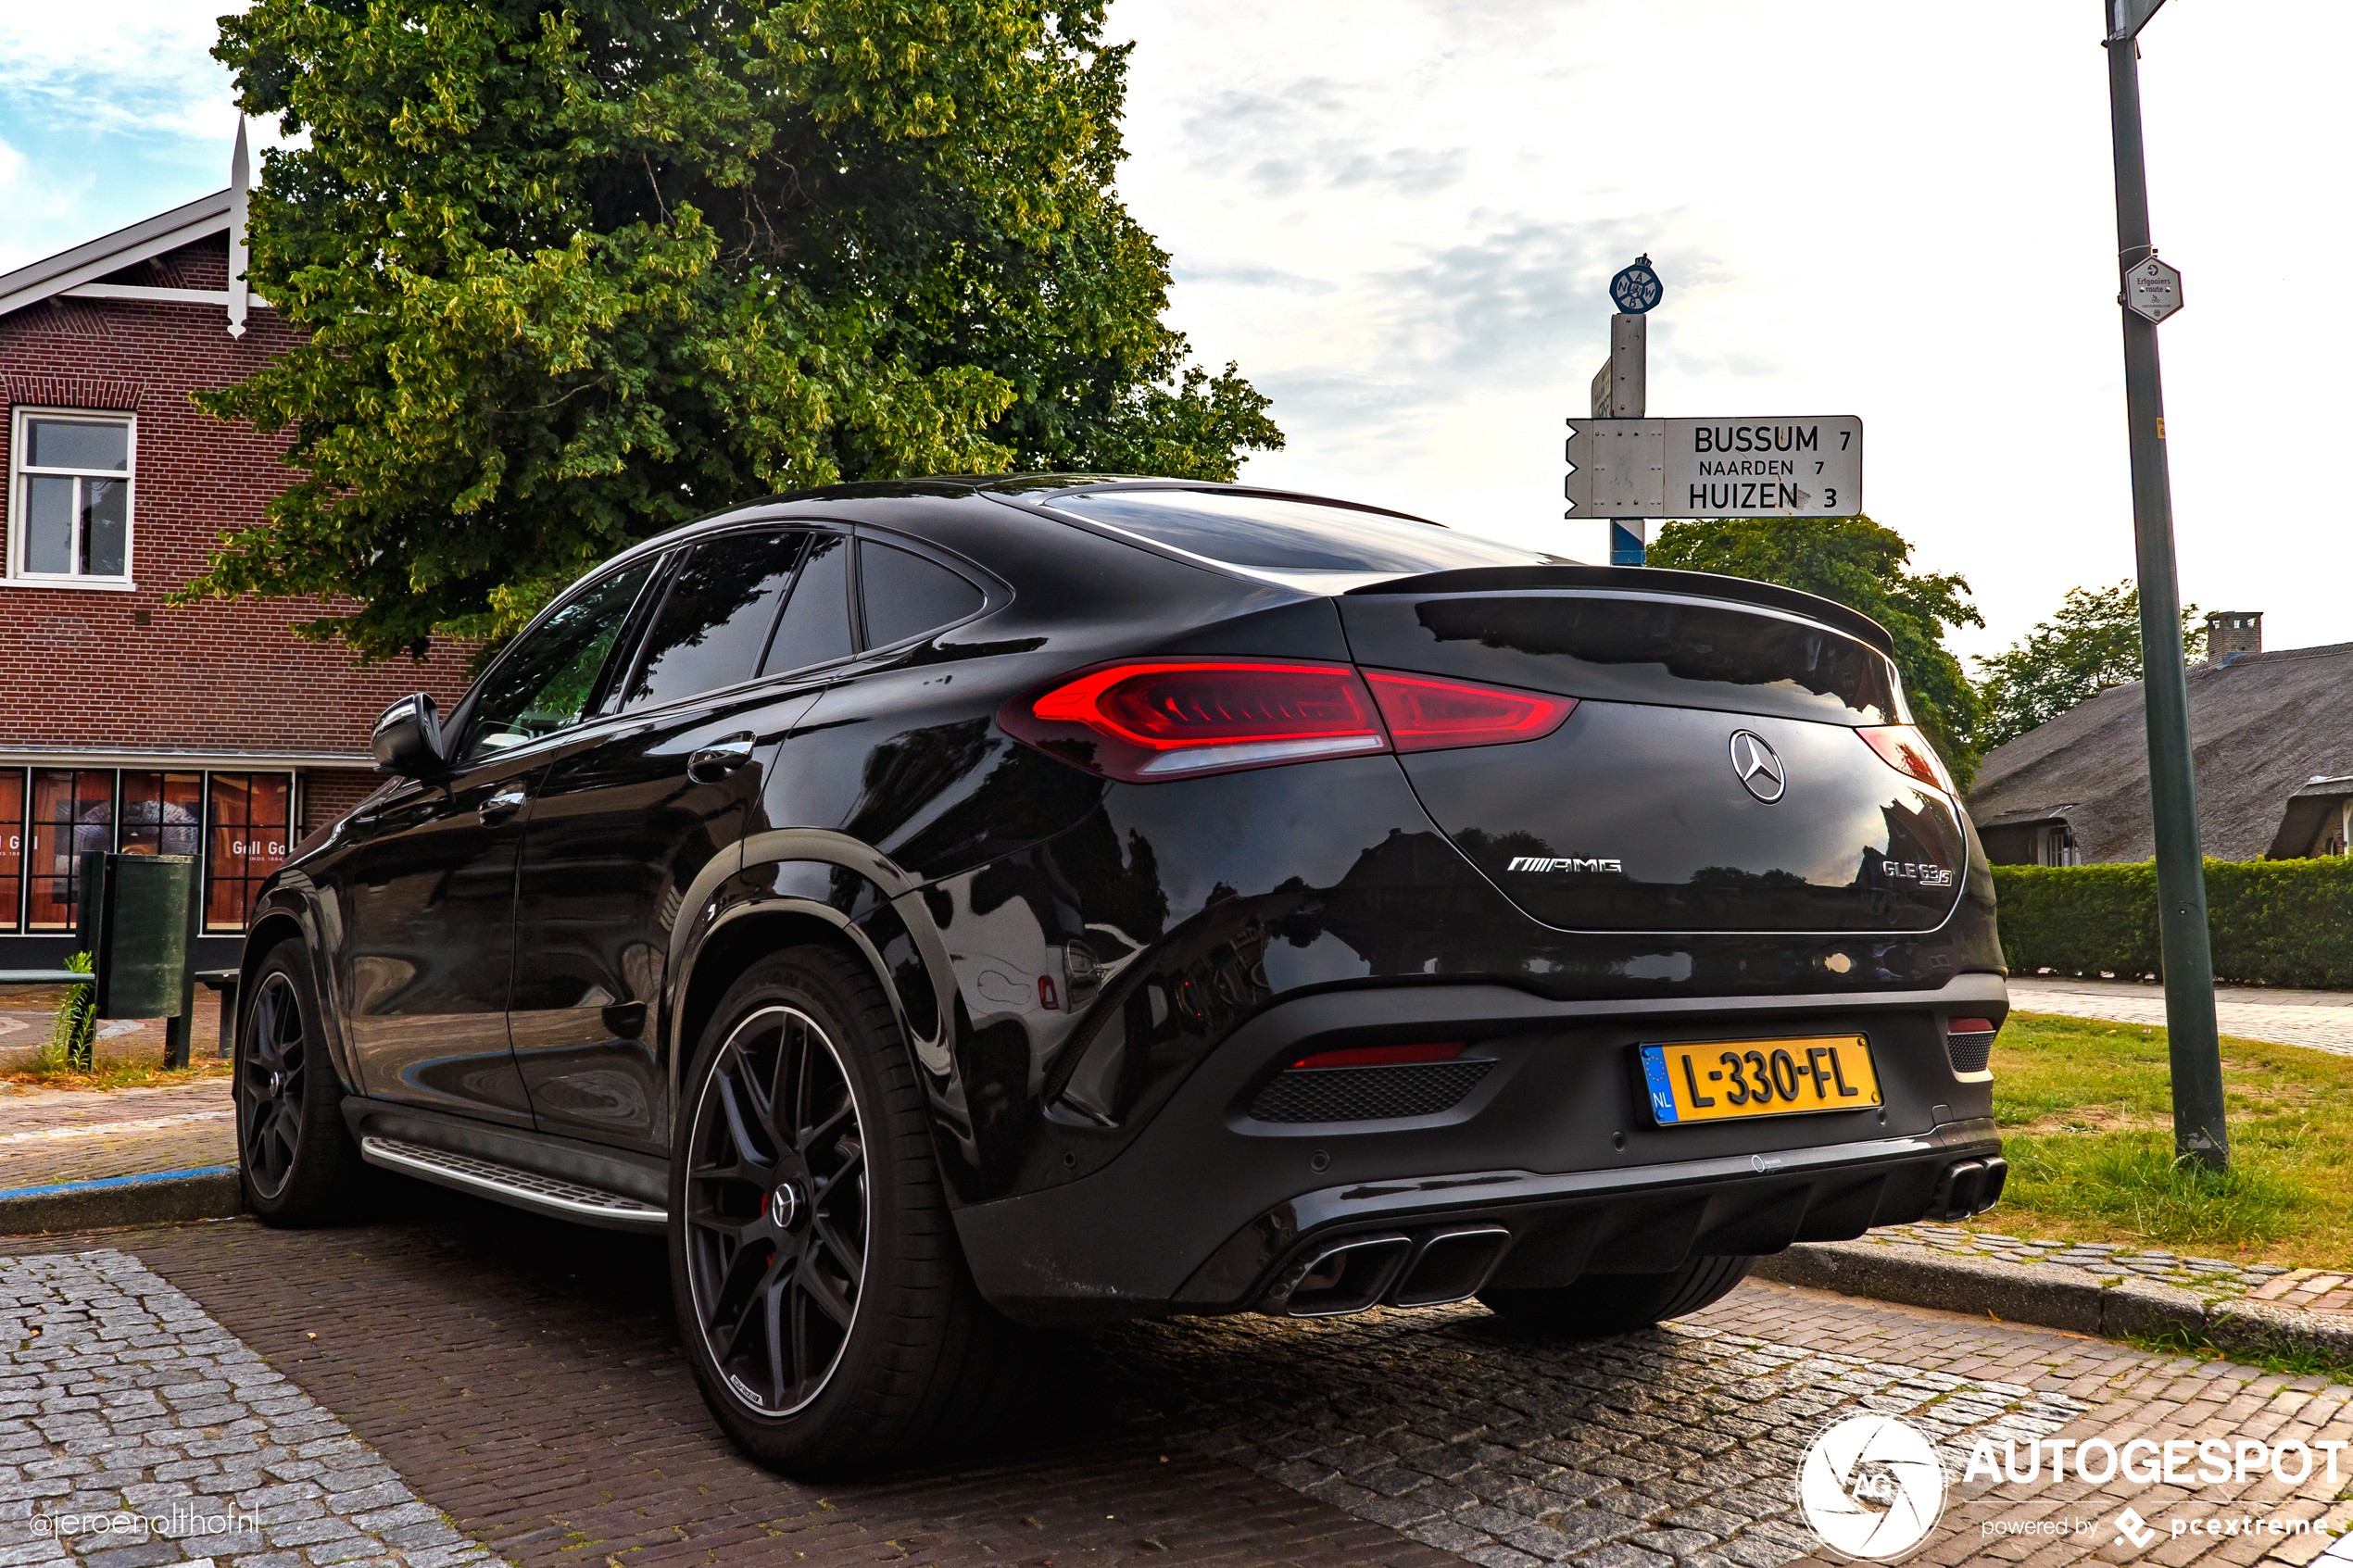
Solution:
{"label": "whole near rear wheel, black tyre and alloy rim together", "polygon": [[671,1215],[694,1378],[772,1469],[951,1446],[1028,1385],[1035,1340],[965,1269],[889,1001],[835,947],[772,954],[720,1001],[680,1095]]}

